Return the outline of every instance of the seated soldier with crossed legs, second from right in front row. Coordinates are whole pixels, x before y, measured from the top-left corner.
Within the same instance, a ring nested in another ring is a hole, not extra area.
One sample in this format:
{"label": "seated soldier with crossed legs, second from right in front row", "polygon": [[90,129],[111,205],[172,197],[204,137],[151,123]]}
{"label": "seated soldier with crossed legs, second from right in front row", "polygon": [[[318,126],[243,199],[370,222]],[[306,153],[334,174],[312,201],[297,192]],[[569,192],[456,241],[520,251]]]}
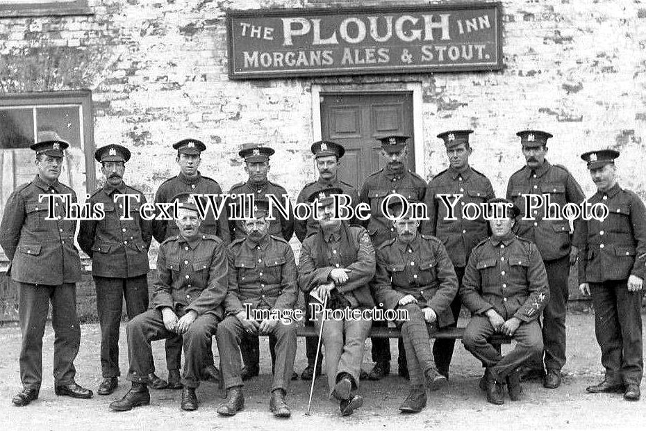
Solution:
{"label": "seated soldier with crossed legs, second from right in front row", "polygon": [[420,220],[413,218],[412,207],[404,212],[401,201],[393,200],[388,209],[401,218],[392,221],[397,239],[386,241],[376,252],[373,295],[386,309],[408,311],[408,320],[397,322],[411,380],[399,410],[418,413],[426,406],[426,387],[436,390],[447,381],[433,361],[429,331],[454,323],[449,304],[458,293],[458,280],[444,245],[417,232]]}

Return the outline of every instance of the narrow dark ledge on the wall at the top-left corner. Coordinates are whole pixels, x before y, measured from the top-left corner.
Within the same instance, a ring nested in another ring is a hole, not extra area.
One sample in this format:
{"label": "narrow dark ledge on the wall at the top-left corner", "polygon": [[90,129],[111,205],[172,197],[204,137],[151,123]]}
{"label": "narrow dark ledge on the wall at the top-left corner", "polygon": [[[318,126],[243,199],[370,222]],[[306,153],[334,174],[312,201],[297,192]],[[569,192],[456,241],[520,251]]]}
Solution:
{"label": "narrow dark ledge on the wall at the top-left corner", "polygon": [[0,0],[0,17],[92,15],[88,0]]}

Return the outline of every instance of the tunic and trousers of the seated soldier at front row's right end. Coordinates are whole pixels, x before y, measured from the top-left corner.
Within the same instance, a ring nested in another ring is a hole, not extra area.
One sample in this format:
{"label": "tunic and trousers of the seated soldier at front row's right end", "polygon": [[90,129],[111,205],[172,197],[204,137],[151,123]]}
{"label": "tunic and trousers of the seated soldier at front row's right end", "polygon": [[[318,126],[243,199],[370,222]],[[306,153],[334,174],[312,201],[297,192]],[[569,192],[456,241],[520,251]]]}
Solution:
{"label": "tunic and trousers of the seated soldier at front row's right end", "polygon": [[[465,268],[460,294],[473,316],[463,343],[501,378],[543,351],[538,316],[549,301],[545,265],[536,245],[513,234],[491,238],[474,247]],[[495,333],[486,311],[504,320],[520,320],[515,348],[504,357],[489,338]]]}

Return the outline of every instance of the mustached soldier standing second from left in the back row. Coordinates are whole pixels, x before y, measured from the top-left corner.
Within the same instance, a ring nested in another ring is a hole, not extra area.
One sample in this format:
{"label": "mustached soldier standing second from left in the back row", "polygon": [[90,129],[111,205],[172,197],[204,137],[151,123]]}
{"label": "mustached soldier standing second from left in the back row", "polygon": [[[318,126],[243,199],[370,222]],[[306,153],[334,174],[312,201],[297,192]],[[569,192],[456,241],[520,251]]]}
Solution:
{"label": "mustached soldier standing second from left in the back row", "polygon": [[[148,248],[153,235],[152,223],[143,220],[139,214],[140,205],[146,202],[146,198],[124,182],[125,163],[130,160],[129,149],[121,145],[106,145],[94,152],[94,158],[101,163],[106,183],[88,202],[92,206],[103,204],[105,218],[82,220],[78,245],[92,258],[92,277],[97,289],[103,375],[97,392],[109,395],[117,388],[117,377],[121,375],[119,324],[122,298],[126,299],[129,319],[148,309]],[[115,195],[124,194],[138,199],[115,199]],[[130,207],[130,220],[124,218],[124,204]]]}

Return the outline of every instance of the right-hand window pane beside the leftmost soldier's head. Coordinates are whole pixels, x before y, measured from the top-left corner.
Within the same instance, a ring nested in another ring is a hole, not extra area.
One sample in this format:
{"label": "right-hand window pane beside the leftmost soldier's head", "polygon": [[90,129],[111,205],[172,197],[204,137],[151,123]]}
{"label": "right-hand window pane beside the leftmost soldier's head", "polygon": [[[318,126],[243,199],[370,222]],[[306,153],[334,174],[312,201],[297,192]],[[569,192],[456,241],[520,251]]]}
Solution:
{"label": "right-hand window pane beside the leftmost soldier's head", "polygon": [[78,105],[36,108],[38,140],[62,139],[69,143],[65,150],[60,181],[76,192],[78,200],[85,200],[85,158],[81,138],[81,107]]}

